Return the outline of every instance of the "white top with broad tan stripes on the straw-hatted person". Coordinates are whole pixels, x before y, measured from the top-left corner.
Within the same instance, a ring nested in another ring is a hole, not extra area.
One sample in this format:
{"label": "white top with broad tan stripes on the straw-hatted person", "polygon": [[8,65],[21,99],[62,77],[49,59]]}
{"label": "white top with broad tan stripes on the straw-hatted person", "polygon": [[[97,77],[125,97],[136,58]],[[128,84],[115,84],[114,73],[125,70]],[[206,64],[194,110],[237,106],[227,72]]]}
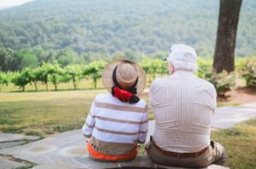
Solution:
{"label": "white top with broad tan stripes on the straw-hatted person", "polygon": [[124,155],[147,138],[148,106],[143,100],[128,104],[110,93],[98,94],[82,132],[102,153]]}

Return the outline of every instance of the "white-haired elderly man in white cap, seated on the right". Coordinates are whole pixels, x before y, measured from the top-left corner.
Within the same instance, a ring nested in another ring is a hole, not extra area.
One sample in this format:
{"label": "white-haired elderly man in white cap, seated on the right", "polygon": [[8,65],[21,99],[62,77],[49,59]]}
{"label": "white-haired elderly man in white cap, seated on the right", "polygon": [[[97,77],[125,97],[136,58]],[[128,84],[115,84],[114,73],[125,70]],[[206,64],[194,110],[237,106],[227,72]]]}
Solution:
{"label": "white-haired elderly man in white cap, seated on the right", "polygon": [[166,166],[224,165],[224,147],[210,141],[216,90],[194,75],[197,56],[193,48],[176,44],[171,50],[170,76],[156,79],[150,87],[155,128],[145,149],[152,161]]}

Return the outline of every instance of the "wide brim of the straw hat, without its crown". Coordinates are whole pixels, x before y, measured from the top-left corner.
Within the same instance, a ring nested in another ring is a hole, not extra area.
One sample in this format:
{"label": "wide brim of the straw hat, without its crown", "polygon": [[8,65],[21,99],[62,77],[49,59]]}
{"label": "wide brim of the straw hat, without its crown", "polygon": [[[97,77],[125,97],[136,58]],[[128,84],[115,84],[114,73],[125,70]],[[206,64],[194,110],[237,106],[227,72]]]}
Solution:
{"label": "wide brim of the straw hat, without its crown", "polygon": [[131,62],[131,64],[137,67],[138,82],[137,82],[137,95],[143,93],[144,88],[146,87],[146,74],[143,68],[140,65],[137,65],[136,62],[127,59],[115,59],[112,62],[108,63],[105,68],[102,70],[102,84],[111,93],[113,87],[113,69],[119,65],[121,61]]}

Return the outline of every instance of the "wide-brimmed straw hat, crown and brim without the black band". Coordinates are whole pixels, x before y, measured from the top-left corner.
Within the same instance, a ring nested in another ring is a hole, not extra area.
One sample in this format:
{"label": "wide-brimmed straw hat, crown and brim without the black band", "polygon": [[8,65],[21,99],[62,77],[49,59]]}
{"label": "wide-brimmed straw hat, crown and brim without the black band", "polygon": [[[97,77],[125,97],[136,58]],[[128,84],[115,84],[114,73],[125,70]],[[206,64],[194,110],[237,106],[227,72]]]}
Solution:
{"label": "wide-brimmed straw hat, crown and brim without the black band", "polygon": [[123,89],[131,87],[137,81],[137,95],[143,93],[146,86],[144,70],[137,63],[127,59],[113,60],[102,71],[102,83],[109,93],[111,93],[112,87],[114,86],[113,70],[115,68],[117,82]]}

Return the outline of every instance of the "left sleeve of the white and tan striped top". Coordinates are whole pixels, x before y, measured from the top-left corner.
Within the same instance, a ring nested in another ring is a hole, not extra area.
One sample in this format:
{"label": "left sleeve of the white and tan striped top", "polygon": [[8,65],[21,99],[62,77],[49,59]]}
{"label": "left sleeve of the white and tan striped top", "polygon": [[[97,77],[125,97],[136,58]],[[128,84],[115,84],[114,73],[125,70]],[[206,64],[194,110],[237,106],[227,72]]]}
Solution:
{"label": "left sleeve of the white and tan striped top", "polygon": [[84,123],[84,127],[82,128],[82,132],[86,138],[90,138],[91,132],[95,125],[95,102],[96,102],[96,99],[94,99],[93,103],[91,104],[90,112],[87,115],[86,121]]}

